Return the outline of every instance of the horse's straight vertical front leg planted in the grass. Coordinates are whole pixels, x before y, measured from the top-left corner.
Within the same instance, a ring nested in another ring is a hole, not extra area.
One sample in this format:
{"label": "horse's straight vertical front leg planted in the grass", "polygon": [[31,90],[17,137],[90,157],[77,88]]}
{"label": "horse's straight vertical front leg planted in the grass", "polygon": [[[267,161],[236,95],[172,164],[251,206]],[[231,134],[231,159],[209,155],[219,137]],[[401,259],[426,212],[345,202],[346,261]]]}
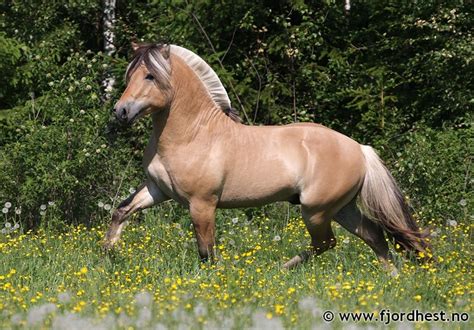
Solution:
{"label": "horse's straight vertical front leg planted in the grass", "polygon": [[192,201],[189,205],[201,261],[214,259],[216,203]]}

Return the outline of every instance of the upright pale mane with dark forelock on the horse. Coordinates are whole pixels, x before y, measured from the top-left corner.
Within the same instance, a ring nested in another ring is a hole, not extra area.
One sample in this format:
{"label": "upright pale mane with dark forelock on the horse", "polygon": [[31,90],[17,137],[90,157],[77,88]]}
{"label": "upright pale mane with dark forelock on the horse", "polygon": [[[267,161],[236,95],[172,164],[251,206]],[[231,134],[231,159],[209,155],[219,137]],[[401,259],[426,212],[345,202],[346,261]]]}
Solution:
{"label": "upright pale mane with dark forelock on the horse", "polygon": [[227,116],[236,122],[241,122],[237,111],[232,108],[227,91],[215,71],[201,57],[186,48],[176,45],[139,44],[132,61],[127,67],[126,81],[128,82],[133,72],[144,64],[160,87],[168,89],[171,75],[170,54],[181,58],[194,71],[206,87],[211,99]]}

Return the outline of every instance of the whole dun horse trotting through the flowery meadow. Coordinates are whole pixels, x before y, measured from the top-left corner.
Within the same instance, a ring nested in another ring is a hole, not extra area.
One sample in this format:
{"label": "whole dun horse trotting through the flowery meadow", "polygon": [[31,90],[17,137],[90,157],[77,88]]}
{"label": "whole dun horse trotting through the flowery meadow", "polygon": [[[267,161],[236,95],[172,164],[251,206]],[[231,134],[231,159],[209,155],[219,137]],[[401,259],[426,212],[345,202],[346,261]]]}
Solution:
{"label": "whole dun horse trotting through the flowery meadow", "polygon": [[301,204],[311,235],[311,250],[285,268],[336,245],[333,219],[385,265],[391,255],[384,231],[406,251],[426,251],[425,235],[371,147],[317,124],[243,125],[199,56],[175,45],[133,48],[128,85],[113,111],[126,124],[152,116],[143,157],[148,179],[114,212],[106,248],[132,213],[173,199],[189,209],[202,260],[213,256],[216,208],[276,201]]}

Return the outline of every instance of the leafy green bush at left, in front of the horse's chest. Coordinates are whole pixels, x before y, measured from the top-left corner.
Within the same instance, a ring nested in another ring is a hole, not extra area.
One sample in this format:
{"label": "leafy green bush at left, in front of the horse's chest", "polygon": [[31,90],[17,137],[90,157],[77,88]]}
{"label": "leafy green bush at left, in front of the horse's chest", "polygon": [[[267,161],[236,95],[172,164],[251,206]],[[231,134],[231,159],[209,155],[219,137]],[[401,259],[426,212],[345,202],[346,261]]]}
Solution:
{"label": "leafy green bush at left, in front of the horse's chest", "polygon": [[[106,63],[101,55],[72,52],[63,78],[47,76],[48,93],[0,120],[9,132],[0,139],[0,201],[21,207],[26,227],[55,219],[41,205],[54,205],[65,223],[90,223],[103,217],[99,201],[113,205],[140,180],[141,153],[107,131],[110,105],[99,98]],[[135,139],[140,150],[142,138]]]}

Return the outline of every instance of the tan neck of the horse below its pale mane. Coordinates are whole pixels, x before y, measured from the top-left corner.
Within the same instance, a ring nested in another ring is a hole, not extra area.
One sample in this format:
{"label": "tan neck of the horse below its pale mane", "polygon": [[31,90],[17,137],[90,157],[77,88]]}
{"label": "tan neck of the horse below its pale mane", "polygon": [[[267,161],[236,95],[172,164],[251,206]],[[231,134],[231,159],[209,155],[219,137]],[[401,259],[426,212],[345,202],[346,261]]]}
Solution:
{"label": "tan neck of the horse below its pale mane", "polygon": [[173,67],[170,108],[153,116],[157,150],[189,144],[198,135],[209,138],[236,125],[211,99],[199,78],[183,63]]}

